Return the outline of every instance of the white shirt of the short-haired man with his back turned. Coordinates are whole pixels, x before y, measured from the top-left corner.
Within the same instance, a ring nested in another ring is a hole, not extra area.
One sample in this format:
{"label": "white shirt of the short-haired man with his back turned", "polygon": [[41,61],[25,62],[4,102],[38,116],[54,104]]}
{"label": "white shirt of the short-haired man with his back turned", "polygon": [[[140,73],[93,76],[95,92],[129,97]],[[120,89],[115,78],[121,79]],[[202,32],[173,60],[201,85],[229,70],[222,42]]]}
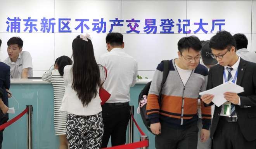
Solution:
{"label": "white shirt of the short-haired man with his back turned", "polygon": [[110,94],[107,103],[126,103],[130,101],[130,87],[137,78],[138,63],[122,48],[113,48],[100,56],[98,63],[107,68],[107,79],[103,84]]}

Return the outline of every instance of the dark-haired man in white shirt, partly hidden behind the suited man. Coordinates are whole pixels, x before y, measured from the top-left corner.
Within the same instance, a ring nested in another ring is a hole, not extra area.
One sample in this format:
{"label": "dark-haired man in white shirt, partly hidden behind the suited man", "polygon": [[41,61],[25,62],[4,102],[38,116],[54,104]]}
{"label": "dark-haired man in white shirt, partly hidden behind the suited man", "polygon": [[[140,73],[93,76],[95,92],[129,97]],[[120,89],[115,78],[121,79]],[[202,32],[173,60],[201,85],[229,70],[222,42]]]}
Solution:
{"label": "dark-haired man in white shirt, partly hidden behind the suited man", "polygon": [[237,45],[237,55],[244,60],[256,63],[256,53],[247,50],[248,40],[244,34],[234,34],[235,43]]}

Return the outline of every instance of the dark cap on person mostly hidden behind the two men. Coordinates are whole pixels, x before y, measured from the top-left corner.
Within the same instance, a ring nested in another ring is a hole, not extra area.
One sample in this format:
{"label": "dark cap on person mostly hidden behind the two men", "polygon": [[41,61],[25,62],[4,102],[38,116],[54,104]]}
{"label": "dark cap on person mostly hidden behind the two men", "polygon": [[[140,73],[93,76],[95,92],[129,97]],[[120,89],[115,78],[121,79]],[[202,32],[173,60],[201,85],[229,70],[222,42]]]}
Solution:
{"label": "dark cap on person mostly hidden behind the two men", "polygon": [[209,47],[210,41],[202,41],[201,57],[204,65],[216,65],[218,61],[211,57],[211,48]]}

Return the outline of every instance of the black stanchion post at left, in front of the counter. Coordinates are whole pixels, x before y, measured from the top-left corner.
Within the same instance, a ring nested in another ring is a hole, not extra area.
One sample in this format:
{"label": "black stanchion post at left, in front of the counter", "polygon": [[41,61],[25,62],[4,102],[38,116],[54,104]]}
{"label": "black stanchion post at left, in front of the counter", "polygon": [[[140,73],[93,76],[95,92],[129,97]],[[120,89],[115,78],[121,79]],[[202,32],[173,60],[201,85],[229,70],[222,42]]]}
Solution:
{"label": "black stanchion post at left, in front of the counter", "polygon": [[33,106],[27,105],[28,108],[27,113],[27,149],[32,149],[32,112]]}

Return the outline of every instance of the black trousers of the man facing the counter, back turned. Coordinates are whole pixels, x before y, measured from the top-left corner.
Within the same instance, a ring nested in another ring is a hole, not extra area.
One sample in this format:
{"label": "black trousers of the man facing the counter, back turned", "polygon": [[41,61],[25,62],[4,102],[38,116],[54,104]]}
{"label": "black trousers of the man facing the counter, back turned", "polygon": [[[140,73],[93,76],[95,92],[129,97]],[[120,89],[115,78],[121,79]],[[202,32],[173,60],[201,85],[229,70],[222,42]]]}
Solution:
{"label": "black trousers of the man facing the counter, back turned", "polygon": [[112,146],[125,144],[126,129],[130,120],[129,103],[105,103],[102,106],[102,118],[104,133],[101,148],[107,147],[110,136]]}

